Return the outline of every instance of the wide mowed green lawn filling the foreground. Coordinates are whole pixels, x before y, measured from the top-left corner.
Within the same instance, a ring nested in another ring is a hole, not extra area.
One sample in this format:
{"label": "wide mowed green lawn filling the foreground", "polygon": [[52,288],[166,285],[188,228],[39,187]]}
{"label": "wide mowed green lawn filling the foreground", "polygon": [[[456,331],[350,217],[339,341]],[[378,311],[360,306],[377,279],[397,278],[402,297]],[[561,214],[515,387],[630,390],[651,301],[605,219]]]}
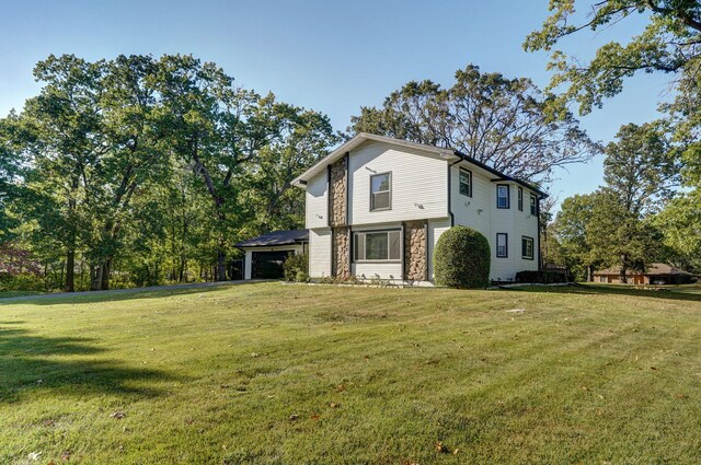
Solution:
{"label": "wide mowed green lawn filling the foreground", "polygon": [[699,463],[701,295],[30,299],[0,304],[0,398],[2,464]]}

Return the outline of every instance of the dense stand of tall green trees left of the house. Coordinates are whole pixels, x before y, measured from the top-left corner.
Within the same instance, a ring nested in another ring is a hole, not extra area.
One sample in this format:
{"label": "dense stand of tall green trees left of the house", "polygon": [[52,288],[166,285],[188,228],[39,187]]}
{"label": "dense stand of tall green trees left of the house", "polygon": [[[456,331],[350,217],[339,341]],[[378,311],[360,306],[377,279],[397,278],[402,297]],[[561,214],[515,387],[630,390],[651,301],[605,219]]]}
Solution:
{"label": "dense stand of tall green trees left of the house", "polygon": [[226,279],[234,243],[302,225],[291,181],[337,141],[192,56],[49,56],[34,74],[0,119],[0,243],[68,290]]}

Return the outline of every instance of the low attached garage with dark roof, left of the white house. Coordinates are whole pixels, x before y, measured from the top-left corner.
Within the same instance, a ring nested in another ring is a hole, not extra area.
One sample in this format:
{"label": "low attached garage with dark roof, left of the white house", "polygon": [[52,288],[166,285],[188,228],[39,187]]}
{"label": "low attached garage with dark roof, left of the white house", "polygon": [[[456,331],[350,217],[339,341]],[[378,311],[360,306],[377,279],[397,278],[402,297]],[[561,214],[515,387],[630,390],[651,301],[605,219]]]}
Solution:
{"label": "low attached garage with dark roof, left of the white house", "polygon": [[309,231],[275,231],[240,242],[243,249],[243,279],[283,278],[283,264],[290,254],[303,254],[309,242]]}

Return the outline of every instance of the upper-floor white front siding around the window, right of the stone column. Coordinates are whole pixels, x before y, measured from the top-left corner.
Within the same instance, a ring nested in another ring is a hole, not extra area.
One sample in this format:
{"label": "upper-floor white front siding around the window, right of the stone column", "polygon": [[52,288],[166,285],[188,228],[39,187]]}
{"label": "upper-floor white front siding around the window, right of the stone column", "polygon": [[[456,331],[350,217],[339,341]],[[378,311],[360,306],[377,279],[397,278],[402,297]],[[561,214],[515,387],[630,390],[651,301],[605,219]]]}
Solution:
{"label": "upper-floor white front siding around the window, right of the stone column", "polygon": [[[350,224],[446,218],[447,161],[426,152],[370,141],[350,152]],[[370,211],[370,176],[392,173],[391,209]],[[308,187],[309,189],[309,187]]]}

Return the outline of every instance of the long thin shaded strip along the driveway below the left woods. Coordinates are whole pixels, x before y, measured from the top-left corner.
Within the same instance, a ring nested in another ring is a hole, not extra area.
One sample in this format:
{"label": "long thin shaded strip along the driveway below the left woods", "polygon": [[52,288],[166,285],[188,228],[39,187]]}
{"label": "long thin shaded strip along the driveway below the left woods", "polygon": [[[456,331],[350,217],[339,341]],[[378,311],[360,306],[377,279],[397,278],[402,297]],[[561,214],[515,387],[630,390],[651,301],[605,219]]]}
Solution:
{"label": "long thin shaded strip along the driveway below the left woods", "polygon": [[111,291],[26,295],[21,298],[0,299],[0,306],[3,304],[57,305],[66,303],[117,302],[131,299],[160,299],[173,295],[212,292],[229,288],[230,286],[241,286],[242,283],[252,286],[262,282],[266,281],[227,281],[226,283],[176,284],[156,288],[115,289]]}

